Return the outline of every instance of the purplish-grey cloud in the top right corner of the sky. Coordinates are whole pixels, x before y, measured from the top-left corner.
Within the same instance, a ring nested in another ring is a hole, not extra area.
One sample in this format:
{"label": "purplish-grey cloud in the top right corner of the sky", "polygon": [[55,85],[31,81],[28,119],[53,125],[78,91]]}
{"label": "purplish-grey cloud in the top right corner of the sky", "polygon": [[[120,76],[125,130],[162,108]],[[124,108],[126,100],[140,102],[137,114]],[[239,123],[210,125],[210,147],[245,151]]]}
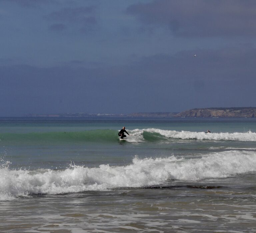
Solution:
{"label": "purplish-grey cloud in the top right corner of the sky", "polygon": [[256,36],[252,0],[154,0],[131,5],[126,12],[145,26],[166,26],[177,37]]}

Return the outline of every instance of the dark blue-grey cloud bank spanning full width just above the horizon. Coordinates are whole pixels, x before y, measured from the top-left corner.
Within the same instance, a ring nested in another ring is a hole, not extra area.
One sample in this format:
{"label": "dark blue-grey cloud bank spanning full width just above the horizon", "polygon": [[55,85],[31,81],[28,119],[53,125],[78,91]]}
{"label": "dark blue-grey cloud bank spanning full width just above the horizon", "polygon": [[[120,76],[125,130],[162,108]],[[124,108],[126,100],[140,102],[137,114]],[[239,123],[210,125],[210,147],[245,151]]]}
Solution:
{"label": "dark blue-grey cloud bank spanning full width just above the horizon", "polygon": [[[9,109],[1,115],[254,106],[255,63],[256,49],[243,45],[158,54],[105,68],[86,68],[83,61],[51,68],[0,66],[0,109]],[[119,98],[120,91],[127,98]]]}

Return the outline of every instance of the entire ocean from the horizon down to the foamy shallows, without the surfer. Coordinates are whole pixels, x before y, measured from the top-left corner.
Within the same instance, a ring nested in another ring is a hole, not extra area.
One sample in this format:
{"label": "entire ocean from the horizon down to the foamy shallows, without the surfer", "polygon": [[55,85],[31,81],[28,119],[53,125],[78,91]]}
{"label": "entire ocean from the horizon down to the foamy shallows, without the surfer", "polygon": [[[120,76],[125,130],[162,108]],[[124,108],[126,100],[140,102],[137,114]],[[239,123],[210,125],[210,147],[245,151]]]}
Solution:
{"label": "entire ocean from the horizon down to the foamy shallows, without the surfer", "polygon": [[0,118],[0,145],[0,232],[256,232],[256,118]]}

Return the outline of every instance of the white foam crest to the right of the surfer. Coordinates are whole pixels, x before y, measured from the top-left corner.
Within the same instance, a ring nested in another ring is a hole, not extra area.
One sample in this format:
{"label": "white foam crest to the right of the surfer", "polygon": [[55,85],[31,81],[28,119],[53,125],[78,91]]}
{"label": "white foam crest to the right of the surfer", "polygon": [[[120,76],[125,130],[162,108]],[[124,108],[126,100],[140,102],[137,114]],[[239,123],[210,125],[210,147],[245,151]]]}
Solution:
{"label": "white foam crest to the right of the surfer", "polygon": [[167,138],[177,139],[200,139],[200,140],[231,140],[231,141],[256,141],[256,133],[248,131],[246,133],[205,133],[190,131],[175,131],[162,129],[135,129],[131,131],[133,134],[143,134],[143,132],[159,133]]}

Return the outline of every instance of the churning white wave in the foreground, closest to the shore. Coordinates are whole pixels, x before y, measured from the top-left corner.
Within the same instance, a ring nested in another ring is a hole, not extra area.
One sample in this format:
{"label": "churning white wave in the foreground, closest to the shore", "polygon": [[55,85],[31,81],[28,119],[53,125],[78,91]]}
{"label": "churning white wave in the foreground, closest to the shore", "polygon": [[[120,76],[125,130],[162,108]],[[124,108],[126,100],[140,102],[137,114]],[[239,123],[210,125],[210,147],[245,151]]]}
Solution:
{"label": "churning white wave in the foreground, closest to the shore", "polygon": [[9,170],[0,168],[0,200],[11,200],[33,194],[61,194],[118,187],[145,187],[164,184],[168,180],[198,181],[222,178],[256,171],[256,153],[225,151],[202,158],[184,159],[135,157],[128,166],[95,168],[70,165],[62,171]]}

